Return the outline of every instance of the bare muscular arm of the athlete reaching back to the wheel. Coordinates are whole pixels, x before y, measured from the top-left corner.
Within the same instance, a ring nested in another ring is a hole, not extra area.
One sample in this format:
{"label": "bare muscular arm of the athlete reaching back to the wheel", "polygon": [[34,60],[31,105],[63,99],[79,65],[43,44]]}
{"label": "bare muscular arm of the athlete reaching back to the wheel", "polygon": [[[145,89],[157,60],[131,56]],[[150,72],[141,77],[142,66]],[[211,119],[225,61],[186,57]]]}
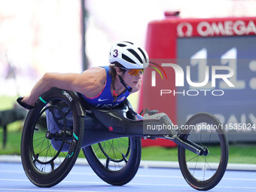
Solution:
{"label": "bare muscular arm of the athlete reaching back to the wheel", "polygon": [[99,94],[105,84],[106,74],[104,68],[94,68],[77,73],[46,73],[35,84],[29,96],[23,99],[29,105],[34,105],[35,101],[42,93],[50,90],[51,87],[58,87],[63,90],[73,90],[82,93],[87,97]]}

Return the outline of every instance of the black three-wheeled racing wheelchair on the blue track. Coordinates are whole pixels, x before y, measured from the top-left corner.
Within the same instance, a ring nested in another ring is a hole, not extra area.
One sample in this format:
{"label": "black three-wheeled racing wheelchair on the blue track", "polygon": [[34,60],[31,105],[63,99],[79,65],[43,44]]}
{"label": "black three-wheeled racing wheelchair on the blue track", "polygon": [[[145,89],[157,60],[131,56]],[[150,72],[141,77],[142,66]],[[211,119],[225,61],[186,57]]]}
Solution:
{"label": "black three-wheeled racing wheelchair on the blue track", "polygon": [[221,181],[228,142],[214,116],[195,114],[186,129],[148,130],[157,125],[173,127],[166,114],[146,111],[142,117],[128,100],[117,108],[97,109],[80,93],[53,87],[27,114],[21,139],[23,169],[33,184],[52,187],[69,174],[82,149],[99,178],[123,185],[139,169],[141,139],[163,138],[178,145],[181,173],[191,187],[209,190]]}

